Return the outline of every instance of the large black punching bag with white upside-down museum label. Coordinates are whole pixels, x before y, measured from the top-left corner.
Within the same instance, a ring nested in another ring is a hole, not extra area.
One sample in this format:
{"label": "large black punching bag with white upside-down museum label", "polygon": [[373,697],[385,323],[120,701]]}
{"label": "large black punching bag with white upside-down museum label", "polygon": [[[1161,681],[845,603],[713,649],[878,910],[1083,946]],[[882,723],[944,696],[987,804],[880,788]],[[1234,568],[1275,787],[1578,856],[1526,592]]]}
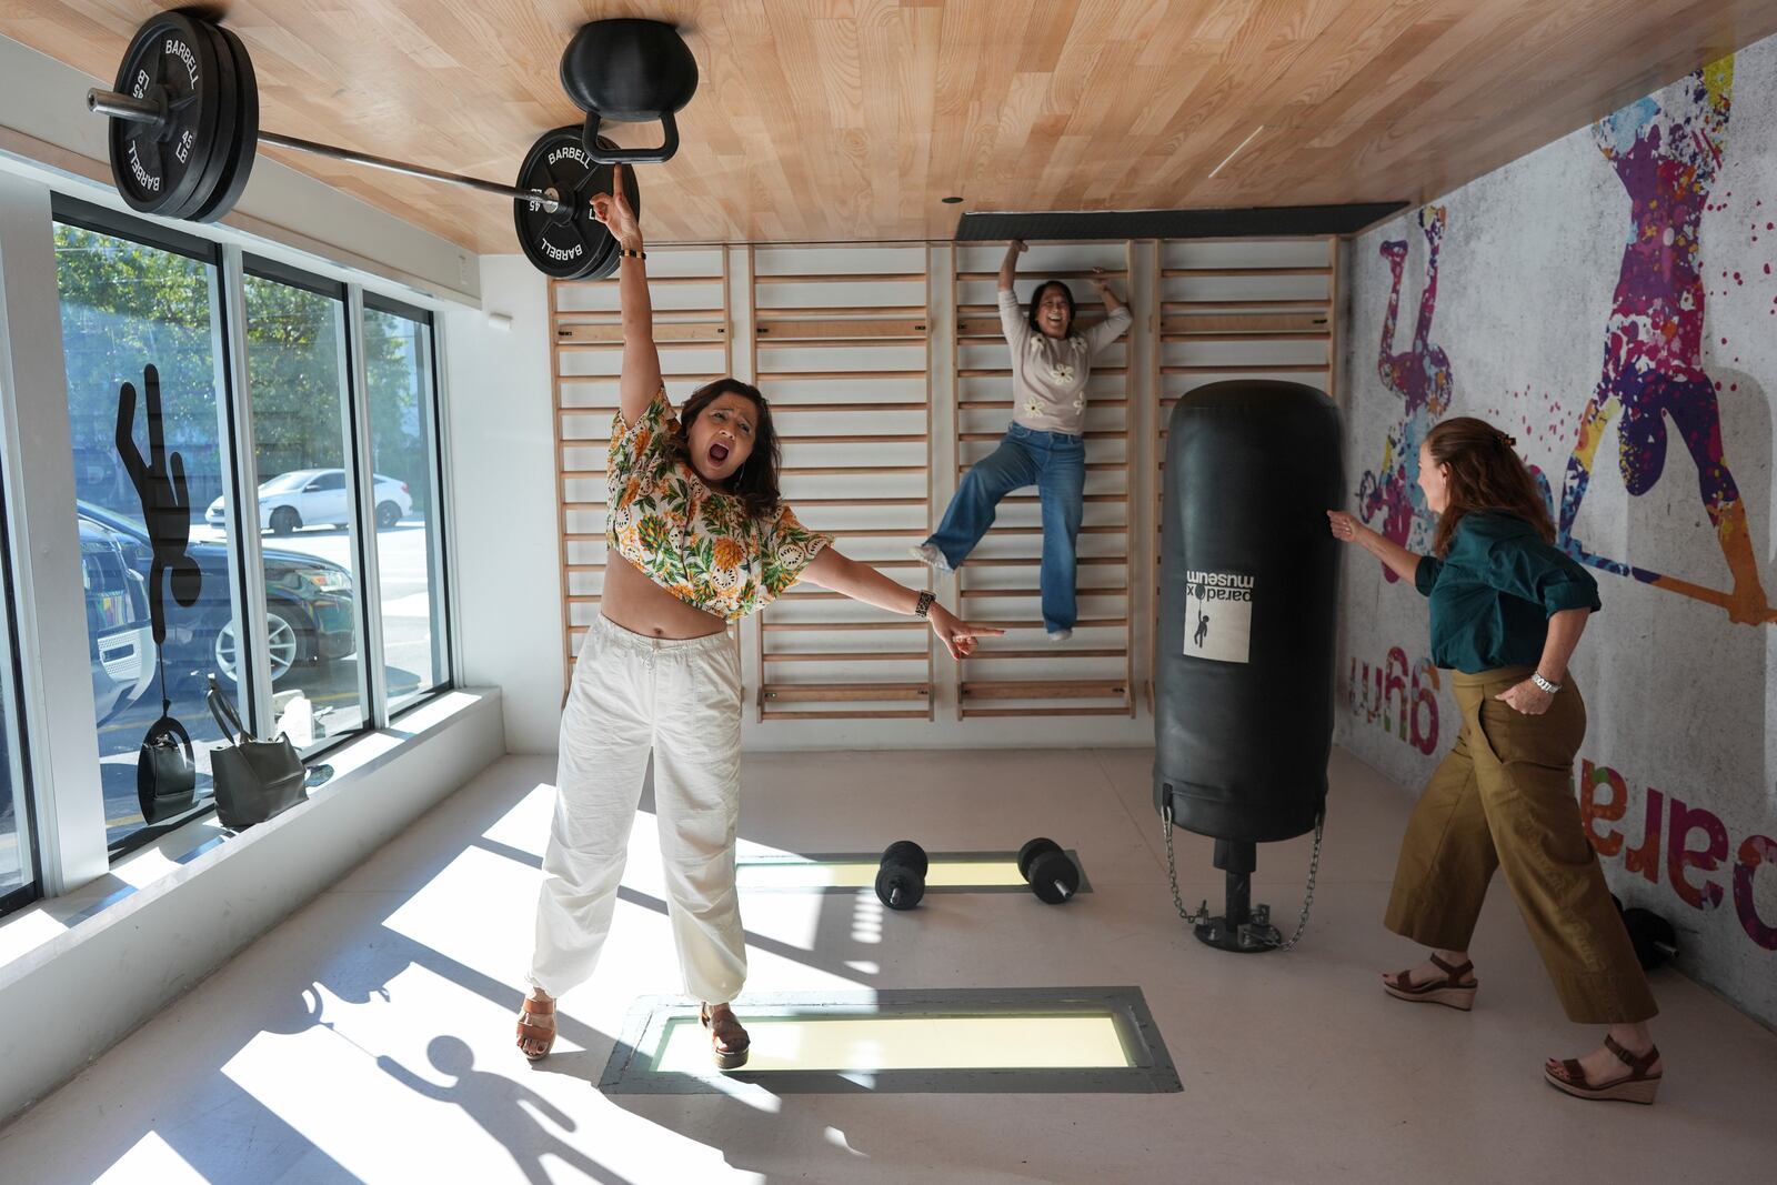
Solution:
{"label": "large black punching bag with white upside-down museum label", "polygon": [[1242,895],[1253,844],[1311,831],[1326,801],[1340,455],[1333,400],[1295,382],[1198,387],[1167,428],[1153,803],[1224,840]]}

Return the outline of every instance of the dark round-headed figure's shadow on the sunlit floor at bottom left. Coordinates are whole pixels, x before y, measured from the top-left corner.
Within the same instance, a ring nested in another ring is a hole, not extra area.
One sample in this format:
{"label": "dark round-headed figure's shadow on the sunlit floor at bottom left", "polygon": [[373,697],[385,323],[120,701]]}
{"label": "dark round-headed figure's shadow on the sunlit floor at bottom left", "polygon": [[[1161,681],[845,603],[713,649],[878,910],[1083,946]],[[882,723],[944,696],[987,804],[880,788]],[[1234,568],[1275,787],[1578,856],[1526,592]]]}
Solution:
{"label": "dark round-headed figure's shadow on the sunlit floor at bottom left", "polygon": [[[451,1086],[428,1082],[389,1055],[379,1057],[377,1066],[402,1086],[426,1098],[462,1107],[464,1114],[482,1125],[482,1130],[512,1153],[512,1158],[519,1164],[528,1181],[549,1185],[549,1174],[544,1173],[542,1160],[544,1157],[556,1157],[595,1181],[622,1185],[624,1178],[615,1176],[560,1135],[549,1132],[531,1112],[535,1110],[563,1132],[574,1130],[570,1116],[563,1114],[537,1091],[505,1075],[476,1070],[474,1054],[460,1038],[448,1034],[432,1038],[432,1043],[426,1046],[426,1057],[432,1061],[434,1070],[450,1075],[455,1082]],[[526,1110],[526,1105],[530,1110]]]}

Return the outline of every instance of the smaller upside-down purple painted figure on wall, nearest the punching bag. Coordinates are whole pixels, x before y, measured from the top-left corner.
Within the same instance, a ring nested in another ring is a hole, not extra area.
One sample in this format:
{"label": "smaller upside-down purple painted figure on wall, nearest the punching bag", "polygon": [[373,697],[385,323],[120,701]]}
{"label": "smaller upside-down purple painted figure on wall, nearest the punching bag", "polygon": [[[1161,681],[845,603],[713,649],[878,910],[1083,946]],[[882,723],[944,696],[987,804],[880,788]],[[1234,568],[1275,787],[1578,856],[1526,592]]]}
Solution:
{"label": "smaller upside-down purple painted figure on wall, nearest the punching bag", "polygon": [[[1425,231],[1429,252],[1425,291],[1420,293],[1413,346],[1400,354],[1393,354],[1391,346],[1400,316],[1400,279],[1407,266],[1407,242],[1390,240],[1381,247],[1393,284],[1388,290],[1388,313],[1383,318],[1377,373],[1383,377],[1383,386],[1400,396],[1406,416],[1388,432],[1383,464],[1375,471],[1365,471],[1358,483],[1358,513],[1365,522],[1374,522],[1381,515],[1377,529],[1402,547],[1423,545],[1423,537],[1432,528],[1432,513],[1425,506],[1425,494],[1420,492],[1420,444],[1450,407],[1450,357],[1430,341],[1432,314],[1438,307],[1438,247],[1446,222],[1448,211],[1443,206],[1420,210],[1420,227]],[[1393,583],[1398,577],[1384,565],[1383,579]]]}

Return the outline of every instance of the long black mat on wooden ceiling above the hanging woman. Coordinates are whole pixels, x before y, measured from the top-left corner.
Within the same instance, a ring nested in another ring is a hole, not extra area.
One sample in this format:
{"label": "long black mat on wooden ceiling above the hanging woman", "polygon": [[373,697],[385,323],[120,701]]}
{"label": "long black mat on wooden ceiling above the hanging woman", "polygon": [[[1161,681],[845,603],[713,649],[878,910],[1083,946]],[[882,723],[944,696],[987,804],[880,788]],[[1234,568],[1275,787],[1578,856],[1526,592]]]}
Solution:
{"label": "long black mat on wooden ceiling above the hanging woman", "polygon": [[956,242],[1354,235],[1406,208],[1404,201],[1383,201],[1351,206],[1247,206],[1240,210],[965,213],[956,222]]}

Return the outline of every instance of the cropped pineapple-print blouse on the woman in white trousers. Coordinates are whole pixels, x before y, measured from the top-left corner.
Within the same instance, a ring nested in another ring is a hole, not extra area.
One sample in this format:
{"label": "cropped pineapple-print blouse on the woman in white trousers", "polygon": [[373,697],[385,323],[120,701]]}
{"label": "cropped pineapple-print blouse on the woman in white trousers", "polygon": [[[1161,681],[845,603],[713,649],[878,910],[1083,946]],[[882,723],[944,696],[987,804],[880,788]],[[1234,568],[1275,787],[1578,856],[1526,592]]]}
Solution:
{"label": "cropped pineapple-print blouse on the woman in white trousers", "polygon": [[666,387],[636,423],[617,414],[604,538],[679,600],[736,622],[777,600],[833,537],[805,528],[784,503],[768,519],[748,517],[739,497],[713,490],[691,465],[668,457],[675,432]]}

